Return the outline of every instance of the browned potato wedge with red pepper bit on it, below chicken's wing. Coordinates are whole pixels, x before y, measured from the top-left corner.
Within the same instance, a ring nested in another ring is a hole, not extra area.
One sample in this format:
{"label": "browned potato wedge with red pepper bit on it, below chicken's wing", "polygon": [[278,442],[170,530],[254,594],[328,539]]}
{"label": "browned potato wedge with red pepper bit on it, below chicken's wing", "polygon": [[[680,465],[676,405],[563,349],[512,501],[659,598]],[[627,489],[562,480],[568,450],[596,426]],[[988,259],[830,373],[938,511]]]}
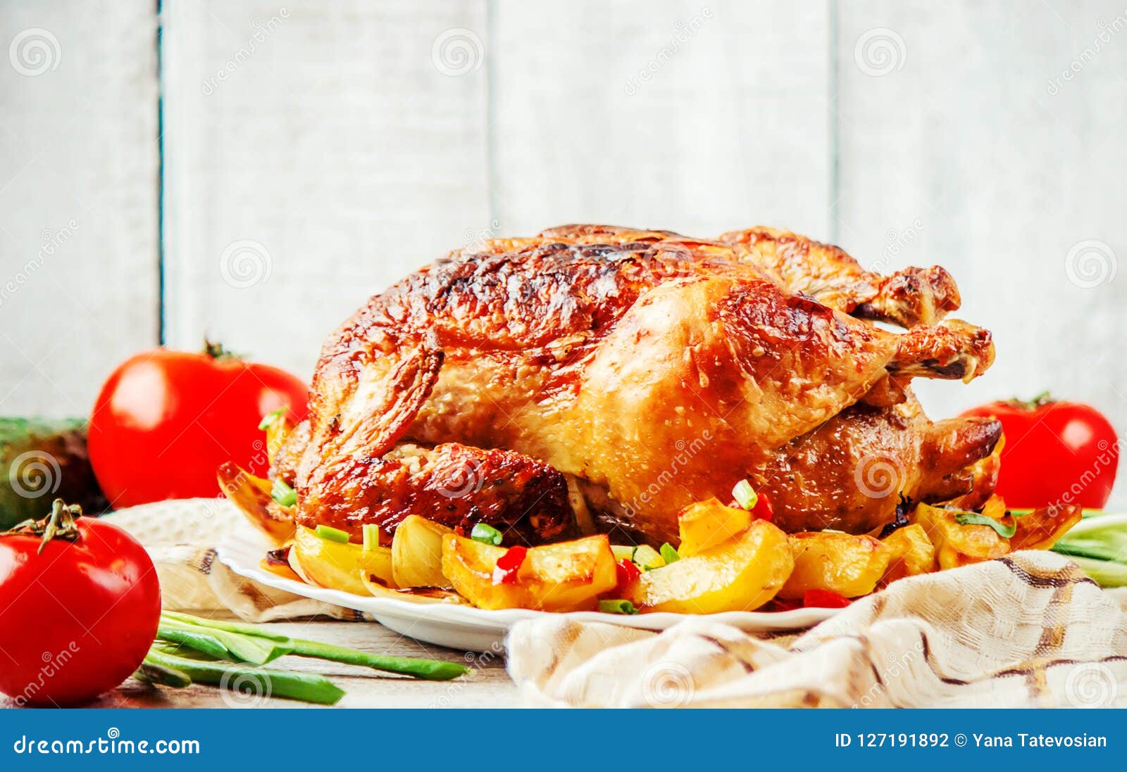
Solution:
{"label": "browned potato wedge with red pepper bit on it, below chicken's wing", "polygon": [[442,537],[442,571],[453,587],[482,609],[578,611],[614,589],[614,554],[605,535],[532,547],[512,584],[495,584],[497,559],[508,550],[456,533]]}

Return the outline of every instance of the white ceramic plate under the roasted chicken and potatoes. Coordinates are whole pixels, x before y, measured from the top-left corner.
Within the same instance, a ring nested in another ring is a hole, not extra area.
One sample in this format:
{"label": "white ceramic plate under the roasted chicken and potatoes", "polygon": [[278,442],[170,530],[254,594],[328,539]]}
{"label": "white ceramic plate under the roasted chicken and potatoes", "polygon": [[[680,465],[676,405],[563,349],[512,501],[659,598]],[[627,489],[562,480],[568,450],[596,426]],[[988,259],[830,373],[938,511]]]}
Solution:
{"label": "white ceramic plate under the roasted chicken and potatoes", "polygon": [[[259,562],[267,549],[269,545],[266,539],[248,523],[239,523],[216,547],[219,559],[241,576],[295,595],[364,611],[384,627],[429,644],[470,652],[498,650],[497,647],[502,645],[505,634],[513,625],[547,613],[527,609],[488,611],[450,603],[411,603],[316,587],[263,571]],[[713,614],[712,619],[749,632],[765,632],[806,629],[834,613],[834,609],[796,609],[781,612],[728,611]],[[623,616],[597,611],[577,611],[568,616],[580,621],[609,622],[644,630],[664,630],[686,618],[685,614],[678,613]]]}

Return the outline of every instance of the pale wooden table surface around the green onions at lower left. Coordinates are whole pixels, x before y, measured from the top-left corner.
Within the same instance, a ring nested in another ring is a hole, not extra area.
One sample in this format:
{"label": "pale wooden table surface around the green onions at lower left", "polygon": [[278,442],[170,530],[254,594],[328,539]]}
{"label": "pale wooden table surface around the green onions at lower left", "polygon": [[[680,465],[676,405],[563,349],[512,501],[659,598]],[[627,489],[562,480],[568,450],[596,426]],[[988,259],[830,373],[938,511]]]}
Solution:
{"label": "pale wooden table surface around the green onions at lower left", "polygon": [[[417,681],[379,673],[366,667],[340,665],[320,659],[282,657],[270,667],[310,671],[328,676],[345,690],[340,708],[514,708],[517,690],[505,672],[500,654],[467,654],[420,644],[375,622],[299,621],[267,627],[300,638],[348,646],[379,654],[449,659],[470,666],[471,672],[454,681]],[[0,704],[3,704],[0,702]],[[11,701],[6,707],[12,707]],[[91,708],[294,708],[303,702],[256,694],[237,694],[214,686],[186,689],[150,686],[130,679],[114,691],[89,703]]]}

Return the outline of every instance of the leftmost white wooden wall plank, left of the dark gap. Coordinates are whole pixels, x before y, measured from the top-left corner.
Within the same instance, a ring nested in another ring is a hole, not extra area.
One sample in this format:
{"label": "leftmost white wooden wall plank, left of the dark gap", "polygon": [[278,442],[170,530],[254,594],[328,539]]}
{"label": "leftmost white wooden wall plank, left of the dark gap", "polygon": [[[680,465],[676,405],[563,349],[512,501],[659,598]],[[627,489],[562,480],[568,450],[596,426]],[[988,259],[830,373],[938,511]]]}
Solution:
{"label": "leftmost white wooden wall plank, left of the dark gap", "polygon": [[152,0],[0,3],[0,414],[158,342],[156,42]]}

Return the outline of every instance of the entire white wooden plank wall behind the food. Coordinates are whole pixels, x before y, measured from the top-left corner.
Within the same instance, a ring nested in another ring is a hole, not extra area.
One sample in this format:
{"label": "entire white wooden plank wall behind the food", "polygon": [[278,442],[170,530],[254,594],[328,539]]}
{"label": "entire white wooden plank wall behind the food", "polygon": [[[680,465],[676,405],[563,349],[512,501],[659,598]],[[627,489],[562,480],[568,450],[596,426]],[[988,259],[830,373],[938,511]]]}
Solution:
{"label": "entire white wooden plank wall behind the food", "polygon": [[[0,298],[0,412],[85,412],[156,341],[153,12],[0,3],[0,42],[44,27],[62,51],[38,77],[0,60],[5,280],[78,222]],[[1127,429],[1124,14],[166,0],[167,340],[308,375],[364,297],[482,234],[763,223],[955,273],[1000,356],[922,386],[934,414],[1051,387]],[[82,322],[44,313],[60,295]]]}

